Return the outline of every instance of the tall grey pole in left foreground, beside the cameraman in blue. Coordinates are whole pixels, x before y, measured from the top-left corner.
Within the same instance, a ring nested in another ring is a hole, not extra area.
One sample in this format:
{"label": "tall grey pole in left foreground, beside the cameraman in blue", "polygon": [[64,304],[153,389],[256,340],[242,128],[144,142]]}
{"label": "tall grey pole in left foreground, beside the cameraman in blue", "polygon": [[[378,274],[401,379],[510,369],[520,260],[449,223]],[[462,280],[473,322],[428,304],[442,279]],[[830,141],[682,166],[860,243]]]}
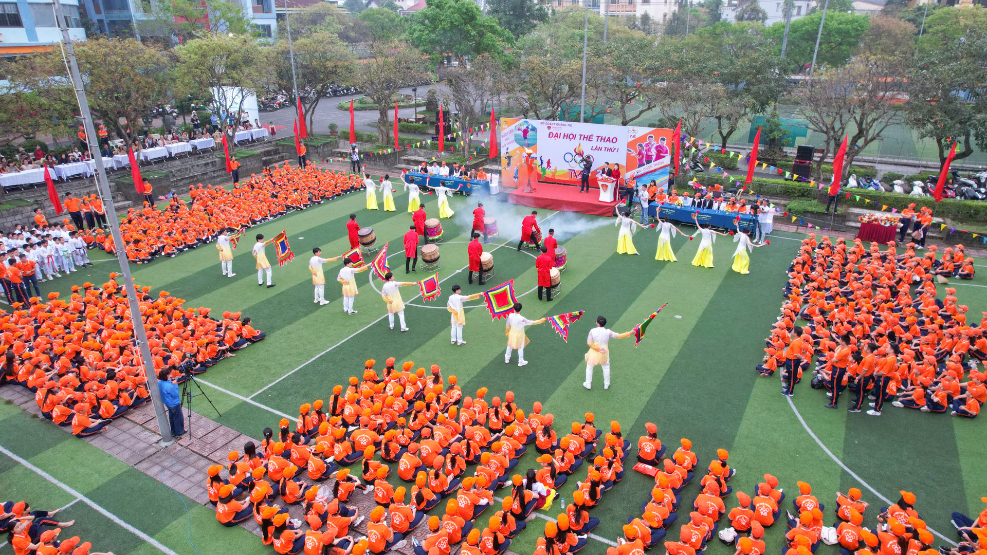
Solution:
{"label": "tall grey pole in left foreground, beside the cameraman in blue", "polygon": [[107,209],[107,221],[110,224],[110,233],[116,245],[116,261],[120,265],[123,289],[126,292],[127,303],[130,308],[130,322],[133,324],[134,342],[140,350],[140,358],[144,366],[144,379],[147,382],[147,391],[151,394],[151,404],[154,406],[154,414],[158,419],[158,429],[161,432],[161,445],[166,446],[175,442],[172,436],[171,424],[165,412],[165,405],[161,402],[161,392],[158,391],[157,375],[154,373],[154,363],[151,358],[151,350],[147,344],[147,330],[144,329],[144,321],[140,317],[140,305],[137,303],[137,289],[133,284],[133,277],[130,275],[130,264],[126,259],[126,250],[123,248],[123,237],[120,235],[119,221],[116,219],[116,206],[114,205],[113,193],[110,191],[110,183],[107,181],[107,170],[103,167],[103,155],[100,153],[99,144],[93,144],[96,135],[96,127],[93,124],[93,115],[89,112],[89,101],[86,100],[86,89],[83,87],[82,75],[79,73],[79,63],[75,57],[75,48],[68,35],[68,28],[65,27],[65,15],[62,13],[62,6],[59,0],[55,0],[55,18],[58,20],[58,29],[62,34],[62,43],[65,47],[65,57],[68,58],[68,66],[72,78],[72,87],[75,89],[76,100],[79,103],[79,113],[82,115],[82,123],[86,130],[86,144],[93,156],[93,163],[96,166],[96,185],[100,190],[100,196],[105,201]]}

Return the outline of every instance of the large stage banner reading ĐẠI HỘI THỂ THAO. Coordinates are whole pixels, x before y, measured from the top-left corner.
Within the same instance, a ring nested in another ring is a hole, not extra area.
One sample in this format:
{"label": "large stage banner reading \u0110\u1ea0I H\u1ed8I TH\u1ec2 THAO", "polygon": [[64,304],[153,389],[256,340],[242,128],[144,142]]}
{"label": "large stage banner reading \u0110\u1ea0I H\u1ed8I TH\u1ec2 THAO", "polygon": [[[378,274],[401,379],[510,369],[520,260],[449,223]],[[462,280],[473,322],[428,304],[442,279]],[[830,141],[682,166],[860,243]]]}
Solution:
{"label": "large stage banner reading \u0110\u1ea0I H\u1ed8I TH\u1ec2 THAO", "polygon": [[[608,177],[620,171],[621,183],[633,179],[668,188],[671,129],[551,121],[500,119],[500,180],[505,187],[539,181],[578,187],[585,165],[589,185],[601,201],[616,199],[620,184]],[[608,171],[609,170],[609,171]]]}

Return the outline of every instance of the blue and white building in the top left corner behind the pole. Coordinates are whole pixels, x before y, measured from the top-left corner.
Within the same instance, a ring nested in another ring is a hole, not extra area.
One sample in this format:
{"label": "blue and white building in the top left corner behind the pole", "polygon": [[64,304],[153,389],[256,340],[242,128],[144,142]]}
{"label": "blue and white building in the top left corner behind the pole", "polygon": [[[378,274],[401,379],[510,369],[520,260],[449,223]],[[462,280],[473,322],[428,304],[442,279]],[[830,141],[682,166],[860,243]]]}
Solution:
{"label": "blue and white building in the top left corner behind the pole", "polygon": [[[61,0],[64,24],[72,40],[86,40],[79,17],[79,0]],[[12,56],[47,49],[61,40],[54,4],[43,0],[0,2],[0,55]]]}

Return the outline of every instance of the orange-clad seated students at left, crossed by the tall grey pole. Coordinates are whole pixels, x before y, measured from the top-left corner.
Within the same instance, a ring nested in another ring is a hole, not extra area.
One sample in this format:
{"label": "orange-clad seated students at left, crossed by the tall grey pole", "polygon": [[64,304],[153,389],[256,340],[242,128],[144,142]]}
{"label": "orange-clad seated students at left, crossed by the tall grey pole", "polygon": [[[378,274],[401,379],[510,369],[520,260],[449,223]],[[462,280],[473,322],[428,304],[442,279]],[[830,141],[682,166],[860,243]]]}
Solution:
{"label": "orange-clad seated students at left, crossed by the tall grey pole", "polygon": [[[102,286],[73,285],[68,300],[48,293],[47,302],[0,312],[0,383],[17,383],[35,392],[44,418],[71,427],[75,436],[102,432],[115,418],[149,399],[140,354],[133,345],[126,295],[117,274]],[[178,380],[233,352],[264,339],[250,318],[208,308],[187,308],[181,298],[150,287],[139,303],[156,369]]]}

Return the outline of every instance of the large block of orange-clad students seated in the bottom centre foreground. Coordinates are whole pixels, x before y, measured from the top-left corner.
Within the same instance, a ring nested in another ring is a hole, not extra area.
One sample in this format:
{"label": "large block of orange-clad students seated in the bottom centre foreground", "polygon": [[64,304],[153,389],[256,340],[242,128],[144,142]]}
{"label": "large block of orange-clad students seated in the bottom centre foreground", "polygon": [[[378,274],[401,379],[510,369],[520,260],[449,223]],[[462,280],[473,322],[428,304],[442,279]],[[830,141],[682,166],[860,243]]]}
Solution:
{"label": "large block of orange-clad students seated in the bottom centre foreground", "polygon": [[[263,541],[279,554],[385,553],[406,547],[424,524],[428,535],[412,542],[418,555],[448,555],[460,543],[463,555],[496,555],[598,450],[538,552],[582,549],[599,524],[588,510],[623,476],[630,443],[617,423],[604,437],[587,413],[584,423],[557,437],[540,403],[526,415],[510,391],[502,400],[486,388],[464,397],[456,376],[444,377],[437,365],[426,371],[409,361],[396,368],[388,358],[379,373],[375,365],[367,360],[361,377],[335,386],[328,401],[299,407],[295,422],[266,429],[261,445],[230,453],[227,468],[209,468],[206,488],[217,519],[235,525],[255,518]],[[512,472],[532,442],[543,453],[541,468]],[[476,466],[471,472],[468,465]],[[392,469],[392,478],[407,486],[388,482]],[[347,506],[356,490],[375,503],[359,537],[351,528],[364,515]],[[291,505],[302,506],[304,522],[290,518]],[[482,525],[480,516],[491,508]]]}

